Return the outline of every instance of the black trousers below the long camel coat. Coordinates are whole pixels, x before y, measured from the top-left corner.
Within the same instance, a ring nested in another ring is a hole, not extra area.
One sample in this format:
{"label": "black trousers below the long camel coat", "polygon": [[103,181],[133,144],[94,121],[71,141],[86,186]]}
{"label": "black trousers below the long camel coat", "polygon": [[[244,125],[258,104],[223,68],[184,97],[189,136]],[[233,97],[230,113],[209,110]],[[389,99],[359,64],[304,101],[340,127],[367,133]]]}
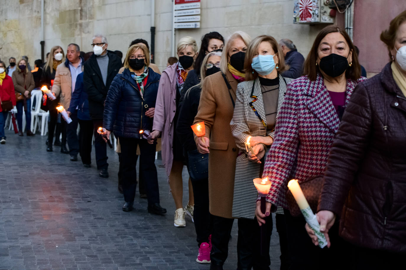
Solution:
{"label": "black trousers below the long camel coat", "polygon": [[233,222],[234,219],[213,215],[212,251],[210,252],[212,264],[223,265],[227,259]]}

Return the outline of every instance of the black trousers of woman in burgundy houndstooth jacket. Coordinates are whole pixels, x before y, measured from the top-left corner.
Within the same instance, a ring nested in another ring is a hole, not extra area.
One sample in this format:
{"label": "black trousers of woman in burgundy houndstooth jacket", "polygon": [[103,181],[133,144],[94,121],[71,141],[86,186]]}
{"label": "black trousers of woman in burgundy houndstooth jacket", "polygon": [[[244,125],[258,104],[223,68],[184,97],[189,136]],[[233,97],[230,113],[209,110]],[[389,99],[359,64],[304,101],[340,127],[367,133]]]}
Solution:
{"label": "black trousers of woman in burgundy houndstooth jacket", "polygon": [[[330,228],[331,247],[320,249],[315,246],[306,232],[306,221],[302,215],[293,217],[289,210],[284,210],[286,232],[289,249],[289,269],[346,269],[348,267],[348,253],[345,242],[338,236],[338,221]],[[363,268],[367,269],[367,268]]]}

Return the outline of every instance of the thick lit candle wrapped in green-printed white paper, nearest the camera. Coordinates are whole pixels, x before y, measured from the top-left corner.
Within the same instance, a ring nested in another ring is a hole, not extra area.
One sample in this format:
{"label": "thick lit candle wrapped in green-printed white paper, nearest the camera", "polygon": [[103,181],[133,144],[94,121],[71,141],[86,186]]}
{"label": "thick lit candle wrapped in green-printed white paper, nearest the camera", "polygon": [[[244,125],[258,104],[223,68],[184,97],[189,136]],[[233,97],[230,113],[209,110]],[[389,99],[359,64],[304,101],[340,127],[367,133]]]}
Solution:
{"label": "thick lit candle wrapped in green-printed white paper, nearest the camera", "polygon": [[292,195],[295,198],[307,224],[309,224],[309,227],[311,227],[314,234],[317,236],[319,247],[324,248],[327,245],[326,237],[322,232],[320,232],[320,224],[317,221],[316,215],[311,210],[309,203],[304,197],[298,180],[292,179],[291,181],[289,181],[289,183],[287,183],[287,187],[289,188],[290,192],[292,192]]}

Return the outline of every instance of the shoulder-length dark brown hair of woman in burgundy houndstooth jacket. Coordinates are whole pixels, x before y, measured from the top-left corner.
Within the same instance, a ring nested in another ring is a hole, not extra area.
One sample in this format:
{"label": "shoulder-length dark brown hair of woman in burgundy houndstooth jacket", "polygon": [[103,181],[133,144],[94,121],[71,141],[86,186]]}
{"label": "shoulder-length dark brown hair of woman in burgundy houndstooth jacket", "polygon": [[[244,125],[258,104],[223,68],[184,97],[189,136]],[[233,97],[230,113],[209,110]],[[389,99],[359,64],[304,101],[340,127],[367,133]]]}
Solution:
{"label": "shoulder-length dark brown hair of woman in burgundy houndstooth jacket", "polygon": [[347,79],[352,79],[352,80],[357,80],[361,77],[361,66],[359,65],[358,62],[358,56],[355,53],[355,47],[354,44],[352,44],[352,41],[350,39],[350,36],[348,36],[347,32],[344,31],[344,29],[338,27],[338,26],[326,26],[323,28],[319,34],[317,34],[316,39],[314,40],[313,46],[311,47],[311,50],[309,51],[309,54],[307,55],[306,61],[304,62],[304,70],[303,70],[303,75],[307,75],[307,77],[310,79],[310,81],[315,81],[317,78],[317,73],[320,73],[319,66],[316,65],[317,61],[317,48],[320,45],[320,42],[322,39],[327,36],[327,34],[330,33],[340,33],[343,35],[344,39],[346,40],[348,47],[350,47],[350,52],[352,51],[352,65],[348,66],[346,70],[346,78]]}

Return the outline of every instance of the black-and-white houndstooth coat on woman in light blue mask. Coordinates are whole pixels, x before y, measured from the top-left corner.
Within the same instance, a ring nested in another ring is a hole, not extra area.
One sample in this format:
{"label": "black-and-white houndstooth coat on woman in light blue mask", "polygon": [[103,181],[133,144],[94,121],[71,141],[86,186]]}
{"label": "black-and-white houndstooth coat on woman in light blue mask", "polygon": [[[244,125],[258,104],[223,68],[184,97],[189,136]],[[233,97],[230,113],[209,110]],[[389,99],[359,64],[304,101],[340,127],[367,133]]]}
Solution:
{"label": "black-and-white houndstooth coat on woman in light blue mask", "polygon": [[[276,119],[281,109],[283,99],[285,98],[286,84],[293,81],[293,79],[284,78],[280,74],[278,76],[279,93]],[[253,96],[257,97],[257,100],[253,102],[253,106],[266,123],[264,108],[266,104],[263,104],[261,85],[258,78],[254,81],[245,81],[238,84],[234,114],[230,122],[235,143],[240,149],[235,164],[232,215],[233,217],[246,219],[254,219],[255,217],[255,202],[258,197],[258,192],[254,186],[253,179],[261,177],[261,164],[254,163],[248,158],[244,143],[247,141],[248,136],[271,136],[274,138],[274,132],[267,134],[266,127],[249,105],[249,102],[253,101],[251,97],[253,85]]]}

